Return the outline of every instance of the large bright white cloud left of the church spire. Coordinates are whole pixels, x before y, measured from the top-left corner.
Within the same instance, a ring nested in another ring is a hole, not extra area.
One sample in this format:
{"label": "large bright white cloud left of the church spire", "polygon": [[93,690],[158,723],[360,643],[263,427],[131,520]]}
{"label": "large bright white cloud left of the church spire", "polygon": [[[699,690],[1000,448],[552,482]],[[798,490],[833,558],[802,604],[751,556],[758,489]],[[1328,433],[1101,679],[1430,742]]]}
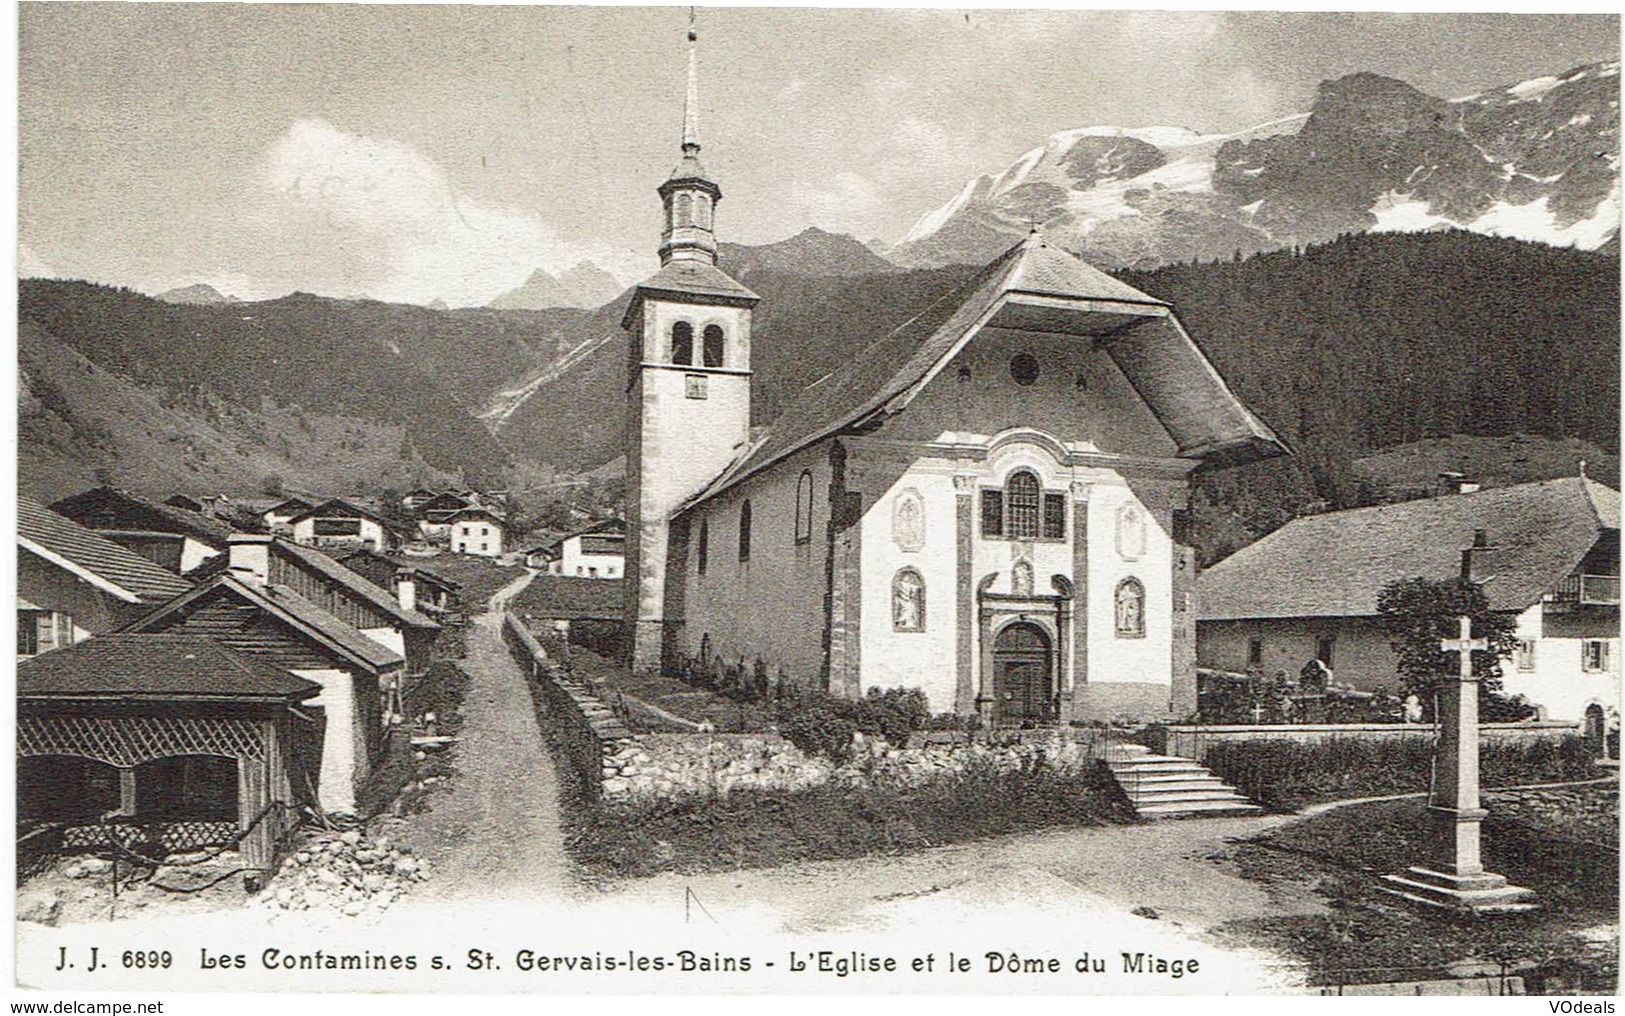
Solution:
{"label": "large bright white cloud left of the church spire", "polygon": [[296,120],[265,153],[254,185],[245,224],[288,288],[483,304],[531,270],[559,271],[580,254],[538,218],[458,192],[410,145],[325,120]]}

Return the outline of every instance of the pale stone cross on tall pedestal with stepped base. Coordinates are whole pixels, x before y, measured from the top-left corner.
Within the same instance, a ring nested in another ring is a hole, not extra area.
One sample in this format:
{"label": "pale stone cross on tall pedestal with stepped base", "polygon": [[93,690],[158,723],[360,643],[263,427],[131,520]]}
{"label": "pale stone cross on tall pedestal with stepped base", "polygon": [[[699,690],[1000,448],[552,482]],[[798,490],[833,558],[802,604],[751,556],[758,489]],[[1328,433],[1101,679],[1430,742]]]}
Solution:
{"label": "pale stone cross on tall pedestal with stepped base", "polygon": [[1472,637],[1472,618],[1459,618],[1459,637],[1443,639],[1441,652],[1459,653],[1458,676],[1438,694],[1436,785],[1428,813],[1436,823],[1433,857],[1402,875],[1384,875],[1383,888],[1406,899],[1476,914],[1529,910],[1534,892],[1484,870],[1480,832],[1488,811],[1479,803],[1479,678],[1472,652],[1488,639]]}

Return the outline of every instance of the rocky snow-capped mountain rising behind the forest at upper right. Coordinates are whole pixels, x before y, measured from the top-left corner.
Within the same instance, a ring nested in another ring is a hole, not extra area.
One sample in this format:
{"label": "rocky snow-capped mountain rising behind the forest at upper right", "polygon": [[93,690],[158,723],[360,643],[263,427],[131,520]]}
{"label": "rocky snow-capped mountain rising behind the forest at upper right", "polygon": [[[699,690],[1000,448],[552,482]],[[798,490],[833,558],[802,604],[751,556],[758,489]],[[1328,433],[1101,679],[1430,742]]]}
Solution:
{"label": "rocky snow-capped mountain rising behind the forest at upper right", "polygon": [[1372,73],[1230,135],[1084,127],[970,180],[887,257],[978,263],[1034,226],[1105,265],[1458,226],[1601,247],[1618,232],[1618,63],[1462,99]]}

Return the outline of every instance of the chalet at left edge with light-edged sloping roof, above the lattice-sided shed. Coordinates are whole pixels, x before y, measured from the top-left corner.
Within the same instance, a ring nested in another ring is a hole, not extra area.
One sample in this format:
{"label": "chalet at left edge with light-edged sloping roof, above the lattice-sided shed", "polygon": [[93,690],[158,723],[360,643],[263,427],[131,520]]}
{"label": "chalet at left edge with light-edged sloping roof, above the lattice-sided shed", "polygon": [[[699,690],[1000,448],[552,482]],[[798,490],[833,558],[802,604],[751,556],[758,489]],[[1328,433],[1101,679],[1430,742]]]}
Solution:
{"label": "chalet at left edge with light-edged sloping roof, above the lattice-sided shed", "polygon": [[16,504],[16,652],[32,657],[99,636],[190,584],[32,497]]}

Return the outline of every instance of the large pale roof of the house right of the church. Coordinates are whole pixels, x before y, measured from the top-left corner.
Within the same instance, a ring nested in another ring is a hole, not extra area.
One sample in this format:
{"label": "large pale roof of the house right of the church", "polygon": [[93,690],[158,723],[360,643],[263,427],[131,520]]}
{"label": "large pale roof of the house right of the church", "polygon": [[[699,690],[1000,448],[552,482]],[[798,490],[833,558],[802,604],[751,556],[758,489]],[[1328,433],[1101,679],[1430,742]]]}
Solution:
{"label": "large pale roof of the house right of the church", "polygon": [[1479,559],[1490,606],[1521,611],[1618,525],[1618,491],[1583,476],[1308,515],[1198,575],[1196,616],[1372,616],[1396,579],[1459,575],[1477,530],[1493,548]]}

